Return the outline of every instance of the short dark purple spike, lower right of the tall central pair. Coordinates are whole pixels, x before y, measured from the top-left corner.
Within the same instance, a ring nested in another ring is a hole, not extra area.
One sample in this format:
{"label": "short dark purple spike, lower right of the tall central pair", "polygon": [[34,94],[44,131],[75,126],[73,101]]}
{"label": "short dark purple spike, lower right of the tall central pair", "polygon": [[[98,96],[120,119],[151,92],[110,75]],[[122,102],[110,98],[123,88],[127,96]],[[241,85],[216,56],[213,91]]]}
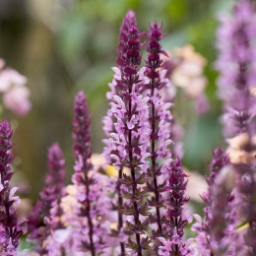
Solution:
{"label": "short dark purple spike, lower right of the tall central pair", "polygon": [[161,246],[159,255],[194,255],[195,251],[189,247],[193,239],[187,242],[182,240],[184,226],[192,222],[192,217],[185,216],[186,209],[183,207],[189,199],[185,197],[187,181],[179,159],[172,160],[170,166],[165,166],[168,173],[168,185],[164,190],[169,191],[168,197],[164,199],[167,205],[165,212],[165,223],[168,231],[168,239],[159,237]]}

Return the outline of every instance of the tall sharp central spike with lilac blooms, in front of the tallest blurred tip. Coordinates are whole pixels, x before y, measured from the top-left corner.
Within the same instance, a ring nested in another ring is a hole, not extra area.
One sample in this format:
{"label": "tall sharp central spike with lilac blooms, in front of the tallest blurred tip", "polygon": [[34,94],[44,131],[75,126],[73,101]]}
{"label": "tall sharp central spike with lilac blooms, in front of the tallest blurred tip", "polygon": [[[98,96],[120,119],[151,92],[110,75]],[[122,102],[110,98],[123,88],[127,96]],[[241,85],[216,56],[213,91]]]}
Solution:
{"label": "tall sharp central spike with lilac blooms, in front of the tallest blurred tip", "polygon": [[[116,87],[122,91],[122,97],[113,96],[115,103],[111,106],[111,112],[116,118],[114,127],[116,133],[111,133],[112,154],[110,157],[115,160],[117,169],[125,166],[131,171],[131,175],[123,174],[121,183],[126,187],[122,188],[122,196],[126,203],[121,210],[122,214],[133,216],[133,223],[127,221],[126,228],[136,236],[136,242],[131,239],[126,247],[133,253],[142,255],[143,250],[151,249],[148,236],[141,240],[141,234],[148,228],[147,220],[141,222],[140,216],[148,216],[145,183],[147,182],[146,170],[150,156],[147,153],[149,147],[150,125],[148,123],[149,109],[147,101],[149,97],[140,95],[142,86],[148,83],[144,76],[145,68],[138,72],[141,63],[139,50],[142,48],[137,26],[131,25],[128,30],[126,53],[123,54],[124,66],[121,70],[113,68]],[[138,184],[144,185],[139,187]]]}

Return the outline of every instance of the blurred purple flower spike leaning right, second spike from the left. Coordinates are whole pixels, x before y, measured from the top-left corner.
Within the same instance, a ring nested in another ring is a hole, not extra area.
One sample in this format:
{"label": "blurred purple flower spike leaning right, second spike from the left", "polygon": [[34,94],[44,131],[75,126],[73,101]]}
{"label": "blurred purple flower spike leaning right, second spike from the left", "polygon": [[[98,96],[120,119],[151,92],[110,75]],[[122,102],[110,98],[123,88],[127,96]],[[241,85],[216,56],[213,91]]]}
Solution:
{"label": "blurred purple flower spike leaning right, second spike from the left", "polygon": [[65,160],[58,144],[53,144],[48,149],[48,172],[45,176],[45,187],[40,192],[40,199],[37,200],[32,216],[29,220],[29,228],[32,233],[29,239],[35,243],[35,251],[39,254],[47,253],[45,239],[54,229],[53,215],[51,209],[56,209],[56,215],[61,215],[61,197],[65,195]]}

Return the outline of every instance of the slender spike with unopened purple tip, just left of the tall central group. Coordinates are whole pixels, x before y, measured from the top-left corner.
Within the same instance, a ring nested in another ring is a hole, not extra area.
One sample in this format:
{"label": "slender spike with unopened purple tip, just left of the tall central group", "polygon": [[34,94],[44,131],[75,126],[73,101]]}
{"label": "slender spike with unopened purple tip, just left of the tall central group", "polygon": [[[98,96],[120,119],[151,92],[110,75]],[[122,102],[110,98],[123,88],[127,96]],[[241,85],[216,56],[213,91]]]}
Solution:
{"label": "slender spike with unopened purple tip, just left of the tall central group", "polygon": [[89,237],[90,244],[87,245],[91,251],[92,256],[96,256],[96,247],[94,243],[94,225],[91,218],[91,200],[89,198],[90,186],[94,183],[94,180],[89,177],[89,171],[92,170],[93,165],[91,163],[92,156],[92,145],[91,145],[91,134],[90,134],[90,114],[88,109],[88,103],[86,96],[83,92],[79,92],[75,97],[74,105],[75,116],[73,119],[73,151],[76,159],[75,165],[75,176],[74,179],[85,186],[86,197],[80,203],[83,205],[82,215],[85,214],[89,224]]}

